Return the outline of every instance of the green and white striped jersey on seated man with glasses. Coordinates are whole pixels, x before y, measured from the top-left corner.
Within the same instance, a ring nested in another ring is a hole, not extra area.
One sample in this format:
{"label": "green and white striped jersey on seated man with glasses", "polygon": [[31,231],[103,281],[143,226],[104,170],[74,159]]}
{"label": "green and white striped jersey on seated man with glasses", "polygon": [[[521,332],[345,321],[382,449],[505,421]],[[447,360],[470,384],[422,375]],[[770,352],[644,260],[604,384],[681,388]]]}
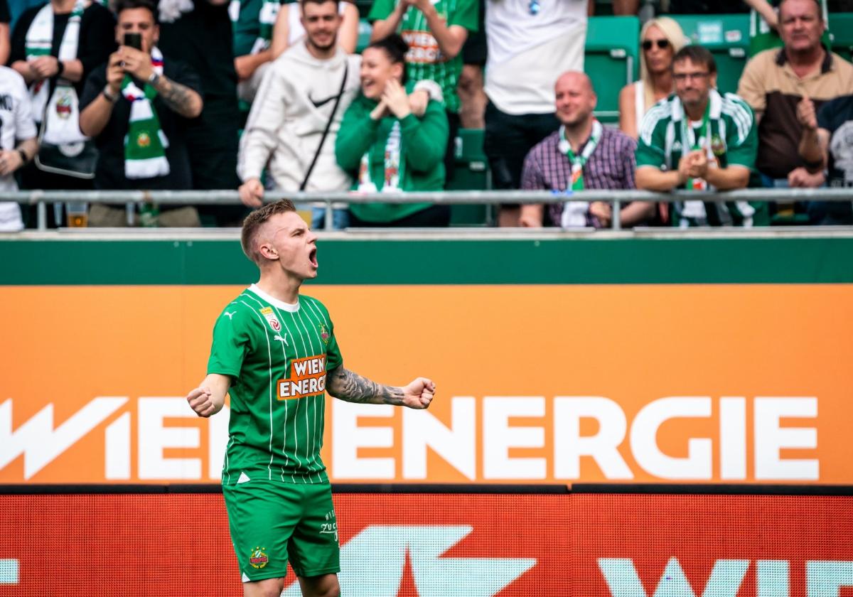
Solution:
{"label": "green and white striped jersey on seated man with glasses", "polygon": [[[757,183],[755,158],[758,149],[757,126],[752,108],[734,93],[721,95],[711,89],[706,119],[693,123],[684,113],[681,100],[672,95],[649,109],[640,124],[635,152],[636,167],[651,165],[674,170],[682,155],[702,148],[720,168],[741,165],[750,171],[750,185]],[[711,187],[709,187],[712,190]],[[751,226],[767,223],[767,204],[746,201],[682,201],[672,204],[672,224]]]}

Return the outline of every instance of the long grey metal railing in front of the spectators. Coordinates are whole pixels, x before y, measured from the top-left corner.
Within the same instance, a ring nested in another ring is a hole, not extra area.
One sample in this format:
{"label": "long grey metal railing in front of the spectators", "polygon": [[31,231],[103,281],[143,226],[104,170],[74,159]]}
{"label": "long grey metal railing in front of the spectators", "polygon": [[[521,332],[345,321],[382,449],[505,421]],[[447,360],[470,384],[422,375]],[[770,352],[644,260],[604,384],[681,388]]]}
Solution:
{"label": "long grey metal railing in front of the spectators", "polygon": [[[718,193],[713,191],[675,191],[651,193],[639,190],[584,190],[557,191],[438,191],[412,193],[334,193],[267,191],[264,201],[290,199],[295,202],[322,204],[326,209],[326,226],[331,229],[334,204],[382,203],[433,203],[438,205],[496,205],[501,203],[554,204],[566,201],[604,201],[613,206],[612,229],[622,229],[619,209],[628,201],[655,201],[671,203],[684,200],[709,202],[727,201],[853,201],[853,188],[745,188]],[[218,191],[53,191],[30,190],[0,192],[0,201],[14,201],[37,206],[37,227],[47,229],[47,204],[55,202],[85,203],[157,203],[160,205],[239,205],[240,196],[235,190]]]}

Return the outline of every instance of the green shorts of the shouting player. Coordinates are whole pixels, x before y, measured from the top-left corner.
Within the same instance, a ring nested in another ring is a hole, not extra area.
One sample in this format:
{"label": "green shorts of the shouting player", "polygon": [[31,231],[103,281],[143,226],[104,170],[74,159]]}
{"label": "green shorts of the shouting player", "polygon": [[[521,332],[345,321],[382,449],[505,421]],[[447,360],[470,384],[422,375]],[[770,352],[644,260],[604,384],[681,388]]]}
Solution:
{"label": "green shorts of the shouting player", "polygon": [[340,571],[332,486],[247,481],[223,485],[231,542],[244,583]]}

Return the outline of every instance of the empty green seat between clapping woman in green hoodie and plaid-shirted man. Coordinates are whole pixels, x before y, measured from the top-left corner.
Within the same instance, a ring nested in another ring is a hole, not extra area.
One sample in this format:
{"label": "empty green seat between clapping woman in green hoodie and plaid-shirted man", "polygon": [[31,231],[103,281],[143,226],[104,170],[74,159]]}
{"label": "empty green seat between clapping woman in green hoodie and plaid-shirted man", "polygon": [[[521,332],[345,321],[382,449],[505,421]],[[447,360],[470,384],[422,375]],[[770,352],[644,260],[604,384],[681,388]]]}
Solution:
{"label": "empty green seat between clapping woman in green hoodie and plaid-shirted man", "polygon": [[[482,129],[459,130],[453,174],[448,190],[482,191],[490,187],[489,160],[483,152]],[[485,226],[488,218],[488,206],[450,206],[451,226]]]}

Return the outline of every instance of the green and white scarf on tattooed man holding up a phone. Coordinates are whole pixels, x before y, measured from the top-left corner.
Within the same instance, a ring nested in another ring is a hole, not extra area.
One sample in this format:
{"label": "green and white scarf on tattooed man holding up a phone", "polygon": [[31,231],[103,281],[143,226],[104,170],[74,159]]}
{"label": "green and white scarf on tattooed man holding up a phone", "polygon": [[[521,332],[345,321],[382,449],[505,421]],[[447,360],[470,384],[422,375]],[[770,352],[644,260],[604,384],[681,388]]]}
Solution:
{"label": "green and white scarf on tattooed man holding up a phone", "polygon": [[[151,66],[154,72],[163,75],[163,55],[157,48],[151,49]],[[150,83],[141,90],[130,75],[125,75],[121,94],[131,102],[131,119],[125,136],[125,177],[165,177],[169,174],[169,160],[165,157],[169,140],[160,129],[154,109],[157,90]]]}

